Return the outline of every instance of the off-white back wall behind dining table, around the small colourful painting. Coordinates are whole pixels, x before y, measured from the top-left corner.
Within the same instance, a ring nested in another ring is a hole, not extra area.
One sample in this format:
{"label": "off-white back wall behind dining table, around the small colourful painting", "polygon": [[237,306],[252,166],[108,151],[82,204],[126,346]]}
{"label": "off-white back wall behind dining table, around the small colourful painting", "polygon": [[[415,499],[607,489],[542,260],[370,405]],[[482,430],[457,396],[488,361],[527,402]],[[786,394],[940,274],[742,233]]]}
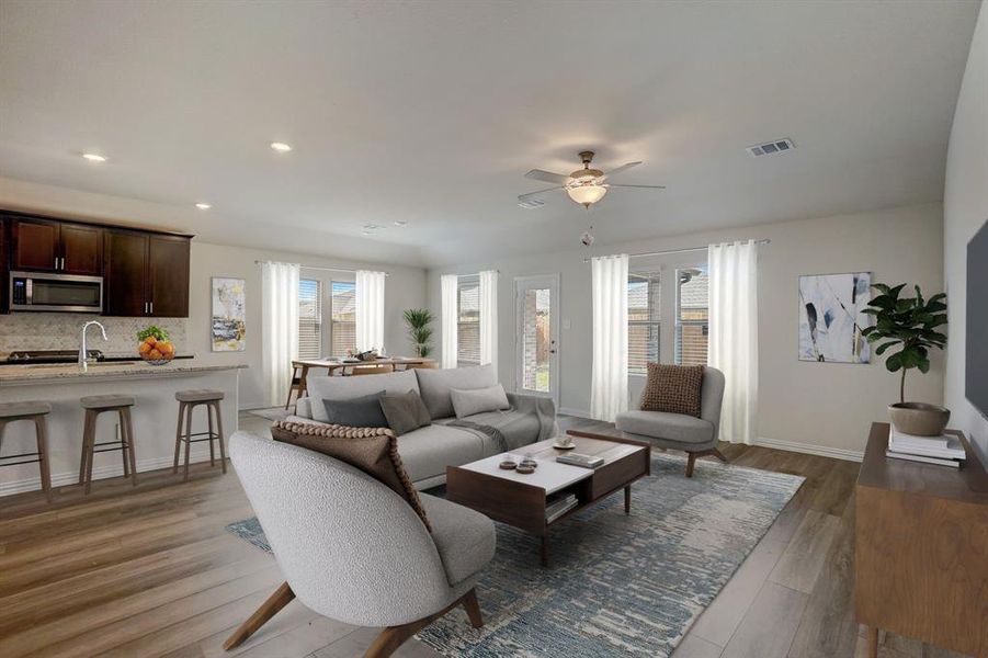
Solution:
{"label": "off-white back wall behind dining table, around the small colourful painting", "polygon": [[[250,368],[240,373],[240,408],[266,407],[261,375],[261,268],[255,260],[295,262],[325,268],[384,270],[390,276],[385,284],[385,347],[390,354],[410,354],[411,345],[405,333],[401,314],[406,308],[425,305],[425,271],[419,268],[398,266],[317,258],[241,247],[209,245],[193,240],[191,265],[191,295],[189,299],[188,351],[194,352],[204,363],[247,363]],[[211,287],[213,276],[230,276],[247,282],[247,350],[245,352],[212,352],[209,341]],[[353,274],[302,270],[303,279],[353,281]],[[328,313],[328,307],[325,308]],[[438,344],[438,343],[436,343]],[[323,342],[328,352],[328,343]]]}

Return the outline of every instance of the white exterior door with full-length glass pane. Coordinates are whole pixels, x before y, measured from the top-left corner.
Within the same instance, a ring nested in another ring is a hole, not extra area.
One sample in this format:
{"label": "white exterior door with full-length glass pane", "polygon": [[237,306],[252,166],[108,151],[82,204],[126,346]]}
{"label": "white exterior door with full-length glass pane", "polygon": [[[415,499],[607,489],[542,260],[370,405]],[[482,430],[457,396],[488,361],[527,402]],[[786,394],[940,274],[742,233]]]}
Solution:
{"label": "white exterior door with full-length glass pane", "polygon": [[515,285],[515,390],[559,402],[559,275],[522,276]]}

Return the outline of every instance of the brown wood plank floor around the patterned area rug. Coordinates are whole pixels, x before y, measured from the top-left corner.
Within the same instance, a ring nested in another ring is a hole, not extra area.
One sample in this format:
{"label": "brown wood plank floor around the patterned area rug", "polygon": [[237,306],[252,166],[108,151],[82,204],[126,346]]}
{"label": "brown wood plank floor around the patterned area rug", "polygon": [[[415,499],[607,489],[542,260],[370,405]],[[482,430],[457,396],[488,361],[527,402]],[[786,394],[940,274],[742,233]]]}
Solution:
{"label": "brown wood plank floor around the patterned area rug", "polygon": [[[241,429],[269,426],[241,413]],[[752,446],[722,451],[735,464],[807,480],[675,656],[864,656],[852,608],[858,465]],[[193,476],[181,484],[167,470],[141,474],[136,489],[100,480],[88,499],[64,487],[50,506],[38,494],[0,499],[0,656],[224,655],[223,639],[282,579],[270,555],[224,530],[252,513],[236,475],[198,465]],[[226,655],[350,658],[375,634],[295,601]],[[398,656],[435,653],[410,642]],[[889,635],[881,656],[952,654]]]}

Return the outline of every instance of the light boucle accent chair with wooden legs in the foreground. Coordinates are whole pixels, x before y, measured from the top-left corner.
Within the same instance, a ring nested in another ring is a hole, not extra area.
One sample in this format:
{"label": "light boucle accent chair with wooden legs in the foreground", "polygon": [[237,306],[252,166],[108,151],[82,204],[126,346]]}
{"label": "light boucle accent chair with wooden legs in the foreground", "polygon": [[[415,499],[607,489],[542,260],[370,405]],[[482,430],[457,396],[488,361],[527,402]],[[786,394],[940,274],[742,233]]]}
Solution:
{"label": "light boucle accent chair with wooden legs in the foreground", "polygon": [[224,644],[242,644],[292,599],[348,624],[385,626],[365,656],[389,656],[462,604],[482,626],[474,587],[495,554],[493,523],[420,495],[432,533],[395,491],[327,455],[247,432],[230,461],[285,582]]}

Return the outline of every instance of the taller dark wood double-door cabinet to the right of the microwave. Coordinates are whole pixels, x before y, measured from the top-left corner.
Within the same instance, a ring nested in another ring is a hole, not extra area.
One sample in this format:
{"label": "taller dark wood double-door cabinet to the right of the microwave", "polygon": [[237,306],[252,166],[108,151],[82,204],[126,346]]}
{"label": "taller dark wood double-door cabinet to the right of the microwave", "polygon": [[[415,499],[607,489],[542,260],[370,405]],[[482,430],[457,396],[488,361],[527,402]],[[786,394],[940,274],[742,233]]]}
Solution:
{"label": "taller dark wood double-door cabinet to the right of the microwave", "polygon": [[103,313],[189,317],[190,238],[106,229]]}

